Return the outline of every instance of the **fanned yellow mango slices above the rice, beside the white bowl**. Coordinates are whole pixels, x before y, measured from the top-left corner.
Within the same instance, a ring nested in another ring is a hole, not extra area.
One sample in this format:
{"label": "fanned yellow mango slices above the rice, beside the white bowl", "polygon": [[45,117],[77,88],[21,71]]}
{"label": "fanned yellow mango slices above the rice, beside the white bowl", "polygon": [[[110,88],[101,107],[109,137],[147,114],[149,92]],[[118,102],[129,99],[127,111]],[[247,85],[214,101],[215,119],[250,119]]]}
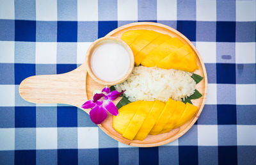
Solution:
{"label": "fanned yellow mango slices above the rice, beside the white bowl", "polygon": [[126,31],[121,39],[132,49],[135,65],[194,72],[196,54],[179,38],[151,30]]}

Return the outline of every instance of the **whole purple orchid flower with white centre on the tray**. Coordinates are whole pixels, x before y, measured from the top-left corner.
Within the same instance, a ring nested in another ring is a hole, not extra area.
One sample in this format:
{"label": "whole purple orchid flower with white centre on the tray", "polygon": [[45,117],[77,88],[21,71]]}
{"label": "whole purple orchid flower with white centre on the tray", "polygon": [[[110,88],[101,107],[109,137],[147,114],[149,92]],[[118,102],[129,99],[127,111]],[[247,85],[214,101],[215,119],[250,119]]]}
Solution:
{"label": "whole purple orchid flower with white centre on the tray", "polygon": [[108,111],[112,115],[117,116],[118,109],[115,104],[112,102],[117,97],[119,97],[124,91],[111,91],[108,87],[102,89],[101,93],[95,93],[91,100],[85,102],[81,107],[83,109],[90,109],[90,118],[93,123],[100,124],[102,123],[108,116]]}

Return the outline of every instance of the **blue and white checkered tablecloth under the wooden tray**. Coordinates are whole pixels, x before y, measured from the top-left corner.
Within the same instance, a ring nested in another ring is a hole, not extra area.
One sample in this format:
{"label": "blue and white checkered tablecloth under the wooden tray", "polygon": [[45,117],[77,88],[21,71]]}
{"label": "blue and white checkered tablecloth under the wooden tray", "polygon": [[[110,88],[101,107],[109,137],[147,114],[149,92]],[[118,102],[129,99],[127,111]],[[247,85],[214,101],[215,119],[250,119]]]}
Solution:
{"label": "blue and white checkered tablecloth under the wooden tray", "polygon": [[[94,40],[137,21],[177,29],[204,59],[206,104],[181,138],[131,147],[77,107],[20,98],[26,77],[74,70]],[[254,0],[0,0],[0,164],[256,164],[255,33]]]}

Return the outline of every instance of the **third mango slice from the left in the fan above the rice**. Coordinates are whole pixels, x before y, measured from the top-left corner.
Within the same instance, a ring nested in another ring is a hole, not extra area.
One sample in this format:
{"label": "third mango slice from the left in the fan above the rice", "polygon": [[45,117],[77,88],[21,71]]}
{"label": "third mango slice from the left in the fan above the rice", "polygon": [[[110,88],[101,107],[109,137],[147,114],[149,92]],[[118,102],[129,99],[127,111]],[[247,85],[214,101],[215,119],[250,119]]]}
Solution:
{"label": "third mango slice from the left in the fan above the rice", "polygon": [[172,37],[169,35],[160,35],[155,40],[148,43],[147,46],[143,47],[143,49],[141,49],[141,51],[138,52],[138,54],[136,54],[136,56],[134,56],[135,65],[139,66],[141,61],[143,61],[143,59],[146,58],[146,56],[149,54],[149,52],[151,52],[153,49],[155,49],[156,47],[161,45],[161,43],[166,42],[166,40],[169,40],[170,38],[172,38]]}

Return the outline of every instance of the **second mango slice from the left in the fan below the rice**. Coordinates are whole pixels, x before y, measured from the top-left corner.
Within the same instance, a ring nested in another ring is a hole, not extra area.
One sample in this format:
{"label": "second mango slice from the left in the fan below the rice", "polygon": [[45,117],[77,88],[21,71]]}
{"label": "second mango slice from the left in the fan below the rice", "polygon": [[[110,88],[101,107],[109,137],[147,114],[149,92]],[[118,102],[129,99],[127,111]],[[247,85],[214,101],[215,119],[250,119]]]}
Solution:
{"label": "second mango slice from the left in the fan below the rice", "polygon": [[150,102],[150,101],[142,102],[142,104],[140,104],[138,110],[132,117],[131,122],[129,123],[129,125],[124,131],[124,134],[123,134],[124,138],[132,140],[136,136],[136,134],[141,128],[141,125],[147,118],[148,113],[150,112],[153,104],[154,102]]}

